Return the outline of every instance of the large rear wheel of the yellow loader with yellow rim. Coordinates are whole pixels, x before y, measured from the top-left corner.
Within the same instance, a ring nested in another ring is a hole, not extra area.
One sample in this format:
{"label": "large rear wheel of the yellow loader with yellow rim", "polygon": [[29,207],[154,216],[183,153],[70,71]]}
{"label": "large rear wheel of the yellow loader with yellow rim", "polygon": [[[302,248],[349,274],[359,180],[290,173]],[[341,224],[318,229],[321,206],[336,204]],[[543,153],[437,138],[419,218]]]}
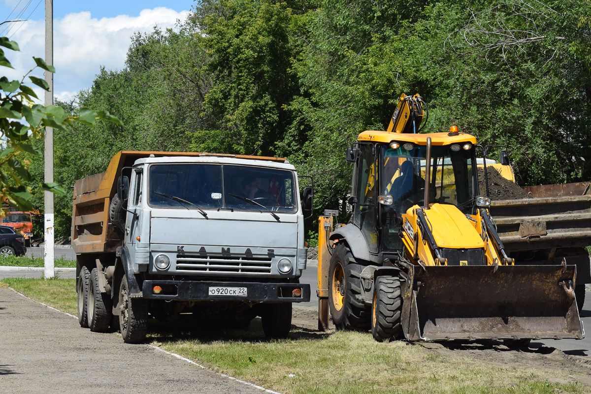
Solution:
{"label": "large rear wheel of the yellow loader with yellow rim", "polygon": [[337,330],[365,331],[370,310],[358,298],[361,295],[361,271],[350,250],[342,243],[335,246],[329,266],[329,309]]}

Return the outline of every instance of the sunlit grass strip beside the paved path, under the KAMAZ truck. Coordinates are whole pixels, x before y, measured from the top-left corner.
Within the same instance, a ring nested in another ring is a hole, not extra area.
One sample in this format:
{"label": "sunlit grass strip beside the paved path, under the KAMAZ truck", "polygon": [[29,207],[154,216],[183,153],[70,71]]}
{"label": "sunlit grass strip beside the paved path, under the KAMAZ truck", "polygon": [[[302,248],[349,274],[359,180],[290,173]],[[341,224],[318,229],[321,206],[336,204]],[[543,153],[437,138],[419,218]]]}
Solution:
{"label": "sunlit grass strip beside the paved path, under the KAMAZ truck", "polygon": [[[76,314],[74,279],[3,279],[4,284]],[[527,368],[445,357],[402,341],[377,343],[367,333],[293,330],[288,340],[265,340],[259,320],[248,331],[195,331],[151,322],[149,339],[217,372],[282,393],[582,393],[576,384]],[[566,376],[558,376],[566,377]]]}

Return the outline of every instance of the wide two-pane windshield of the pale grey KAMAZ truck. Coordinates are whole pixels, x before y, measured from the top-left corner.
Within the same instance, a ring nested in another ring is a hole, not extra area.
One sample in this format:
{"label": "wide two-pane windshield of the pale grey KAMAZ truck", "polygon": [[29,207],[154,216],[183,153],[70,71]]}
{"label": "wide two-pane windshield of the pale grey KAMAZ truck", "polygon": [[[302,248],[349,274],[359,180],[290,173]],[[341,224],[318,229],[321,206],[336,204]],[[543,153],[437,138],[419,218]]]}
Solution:
{"label": "wide two-pane windshield of the pale grey KAMAZ truck", "polygon": [[272,211],[294,213],[297,211],[295,186],[292,171],[275,168],[152,164],[148,171],[148,203],[154,207],[196,209],[160,195],[165,194],[182,198],[201,209],[260,211],[261,207],[249,203],[249,199]]}

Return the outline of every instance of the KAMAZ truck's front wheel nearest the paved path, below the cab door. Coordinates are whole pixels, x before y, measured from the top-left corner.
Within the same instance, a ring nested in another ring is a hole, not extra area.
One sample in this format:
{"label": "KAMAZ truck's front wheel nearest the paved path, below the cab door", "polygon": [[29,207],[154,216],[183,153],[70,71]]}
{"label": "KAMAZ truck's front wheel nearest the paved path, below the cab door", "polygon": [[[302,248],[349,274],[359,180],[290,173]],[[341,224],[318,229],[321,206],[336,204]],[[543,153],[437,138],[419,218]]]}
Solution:
{"label": "KAMAZ truck's front wheel nearest the paved path, below the cab door", "polygon": [[148,304],[143,298],[129,298],[127,277],[119,288],[119,330],[125,343],[141,343],[148,331]]}

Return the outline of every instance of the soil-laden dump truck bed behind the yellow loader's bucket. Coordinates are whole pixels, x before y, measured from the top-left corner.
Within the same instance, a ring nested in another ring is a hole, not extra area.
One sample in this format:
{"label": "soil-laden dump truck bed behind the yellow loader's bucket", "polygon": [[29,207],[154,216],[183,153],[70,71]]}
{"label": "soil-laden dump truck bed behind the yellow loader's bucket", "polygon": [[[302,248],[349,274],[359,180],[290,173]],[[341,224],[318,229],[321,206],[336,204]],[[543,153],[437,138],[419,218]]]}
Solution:
{"label": "soil-laden dump truck bed behind the yellow loader's bucket", "polygon": [[[519,187],[488,167],[489,212],[515,265],[576,265],[574,296],[583,308],[591,283],[589,182]],[[479,168],[479,180],[484,172]],[[481,178],[482,177],[482,178]],[[480,193],[486,194],[480,181]]]}

